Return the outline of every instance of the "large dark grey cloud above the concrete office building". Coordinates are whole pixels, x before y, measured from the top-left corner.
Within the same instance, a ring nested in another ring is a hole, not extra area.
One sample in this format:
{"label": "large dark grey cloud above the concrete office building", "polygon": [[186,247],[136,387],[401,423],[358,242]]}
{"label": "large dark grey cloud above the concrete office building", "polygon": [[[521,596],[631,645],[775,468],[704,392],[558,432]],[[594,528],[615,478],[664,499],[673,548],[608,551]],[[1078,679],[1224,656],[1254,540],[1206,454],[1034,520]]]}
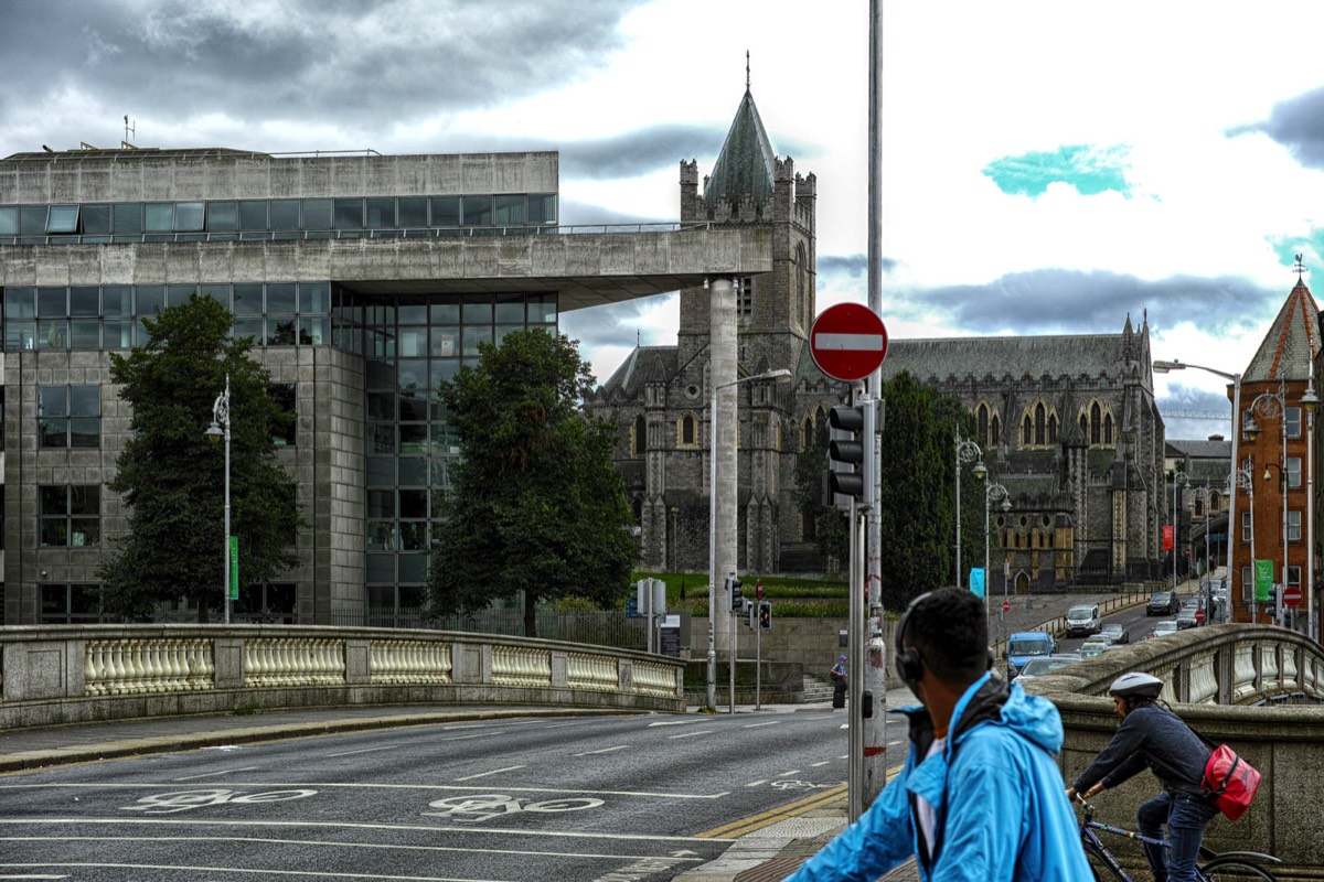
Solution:
{"label": "large dark grey cloud above the concrete office building", "polygon": [[[617,25],[632,5],[626,0],[13,5],[0,28],[0,75],[7,83],[0,127],[78,93],[113,112],[151,118],[160,126],[204,114],[254,126],[332,119],[351,138],[380,140],[372,136],[410,120],[507,102],[584,75],[621,45]],[[32,124],[30,116],[25,124]],[[144,140],[179,145],[160,132]]]}

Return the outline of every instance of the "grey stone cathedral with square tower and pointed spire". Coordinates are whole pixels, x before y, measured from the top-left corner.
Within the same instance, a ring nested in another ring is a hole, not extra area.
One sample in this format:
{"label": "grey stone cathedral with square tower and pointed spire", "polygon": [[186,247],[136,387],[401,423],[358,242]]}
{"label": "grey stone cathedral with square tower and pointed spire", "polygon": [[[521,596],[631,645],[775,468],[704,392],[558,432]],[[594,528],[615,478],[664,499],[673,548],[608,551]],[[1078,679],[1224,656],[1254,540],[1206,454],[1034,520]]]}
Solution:
{"label": "grey stone cathedral with square tower and pointed spire", "polygon": [[[792,374],[735,389],[741,574],[825,569],[794,488],[806,438],[847,393],[808,346],[818,313],[816,200],[814,176],[773,152],[748,86],[702,186],[698,163],[681,163],[682,222],[761,225],[773,241],[773,271],[736,286],[737,377]],[[616,461],[647,569],[708,569],[708,335],[707,291],[682,290],[677,345],[636,346],[588,402],[620,426]],[[903,370],[965,403],[990,479],[1009,491],[1012,509],[990,526],[992,586],[1004,561],[1012,592],[1157,574],[1164,424],[1148,323],[1137,329],[1127,316],[1106,335],[892,340],[883,374]],[[955,439],[952,459],[955,468]]]}

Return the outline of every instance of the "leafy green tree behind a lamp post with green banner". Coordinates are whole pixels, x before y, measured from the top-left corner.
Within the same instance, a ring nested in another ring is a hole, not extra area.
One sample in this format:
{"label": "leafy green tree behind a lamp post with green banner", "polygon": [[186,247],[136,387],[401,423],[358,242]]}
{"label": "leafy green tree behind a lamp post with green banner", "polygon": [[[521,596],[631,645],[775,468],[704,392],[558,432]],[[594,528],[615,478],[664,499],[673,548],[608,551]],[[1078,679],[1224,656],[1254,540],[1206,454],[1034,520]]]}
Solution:
{"label": "leafy green tree behind a lamp post with green banner", "polygon": [[298,563],[291,549],[305,521],[271,440],[293,415],[273,399],[270,377],[249,357],[252,337],[230,339],[233,324],[220,303],[192,295],[143,319],[143,346],[110,357],[110,377],[134,411],[132,435],[109,484],[130,509],[128,533],[98,567],[107,610],[117,615],[144,619],[159,603],[188,598],[205,623],[211,610],[224,608],[225,460],[204,431],[226,374],[230,532],[238,537],[241,578],[266,582]]}

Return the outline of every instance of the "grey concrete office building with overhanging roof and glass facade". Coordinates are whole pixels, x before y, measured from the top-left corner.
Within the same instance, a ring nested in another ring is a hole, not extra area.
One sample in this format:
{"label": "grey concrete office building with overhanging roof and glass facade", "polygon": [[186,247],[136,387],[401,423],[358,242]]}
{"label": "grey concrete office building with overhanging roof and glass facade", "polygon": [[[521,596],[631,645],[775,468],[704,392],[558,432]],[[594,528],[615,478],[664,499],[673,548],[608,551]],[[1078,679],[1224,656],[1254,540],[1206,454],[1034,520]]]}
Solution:
{"label": "grey concrete office building with overhanging roof and glass facade", "polygon": [[399,621],[445,529],[433,496],[455,450],[434,391],[479,342],[772,267],[757,230],[559,227],[557,189],[555,152],[0,160],[4,623],[95,618],[97,563],[126,529],[105,487],[130,422],[110,353],[193,292],[233,311],[294,409],[279,459],[311,525],[297,570],[244,586],[236,618]]}

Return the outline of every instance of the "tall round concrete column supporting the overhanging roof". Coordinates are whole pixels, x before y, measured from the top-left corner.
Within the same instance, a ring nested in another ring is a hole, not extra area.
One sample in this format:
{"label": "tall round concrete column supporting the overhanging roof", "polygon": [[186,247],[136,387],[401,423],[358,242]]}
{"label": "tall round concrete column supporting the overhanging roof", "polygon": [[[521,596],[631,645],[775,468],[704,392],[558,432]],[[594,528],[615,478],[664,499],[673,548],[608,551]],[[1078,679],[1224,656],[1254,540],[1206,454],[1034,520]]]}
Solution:
{"label": "tall round concrete column supporting the overhanging roof", "polygon": [[712,538],[716,555],[716,596],[718,615],[716,643],[719,651],[726,651],[731,633],[731,602],[722,590],[723,581],[736,569],[736,386],[718,389],[736,380],[736,296],[731,278],[715,278],[708,282],[708,389],[718,395],[716,450],[710,451],[716,468],[714,481],[715,522]]}

